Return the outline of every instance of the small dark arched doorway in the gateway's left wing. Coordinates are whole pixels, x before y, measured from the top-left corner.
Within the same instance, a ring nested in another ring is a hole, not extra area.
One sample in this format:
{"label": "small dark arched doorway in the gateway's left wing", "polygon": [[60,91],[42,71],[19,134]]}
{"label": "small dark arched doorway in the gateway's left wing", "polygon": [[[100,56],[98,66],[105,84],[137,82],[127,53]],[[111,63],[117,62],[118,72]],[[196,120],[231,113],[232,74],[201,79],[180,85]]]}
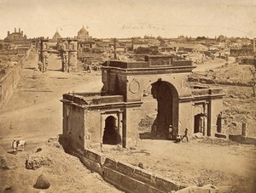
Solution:
{"label": "small dark arched doorway in the gateway's left wing", "polygon": [[103,133],[103,144],[118,145],[121,143],[121,136],[117,128],[117,121],[114,116],[108,116],[105,120]]}

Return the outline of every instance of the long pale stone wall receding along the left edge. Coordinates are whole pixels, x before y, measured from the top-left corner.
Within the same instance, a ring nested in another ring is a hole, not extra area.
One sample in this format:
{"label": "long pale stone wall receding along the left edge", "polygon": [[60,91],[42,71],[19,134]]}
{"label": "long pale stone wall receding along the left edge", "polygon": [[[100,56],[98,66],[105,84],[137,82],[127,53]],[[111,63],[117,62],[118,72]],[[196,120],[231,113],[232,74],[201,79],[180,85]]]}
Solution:
{"label": "long pale stone wall receding along the left edge", "polygon": [[0,80],[0,108],[7,104],[9,98],[14,93],[15,88],[20,80],[20,68],[25,60],[27,60],[32,48],[26,51],[26,54],[20,61]]}

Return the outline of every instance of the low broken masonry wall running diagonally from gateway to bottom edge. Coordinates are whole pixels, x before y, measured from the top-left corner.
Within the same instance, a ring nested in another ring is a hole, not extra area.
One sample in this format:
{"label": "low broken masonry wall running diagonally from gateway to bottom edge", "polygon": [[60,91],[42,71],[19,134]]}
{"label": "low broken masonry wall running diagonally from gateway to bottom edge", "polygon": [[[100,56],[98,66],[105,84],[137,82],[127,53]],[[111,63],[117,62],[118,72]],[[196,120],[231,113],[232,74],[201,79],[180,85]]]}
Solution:
{"label": "low broken masonry wall running diagonally from gateway to bottom edge", "polygon": [[[129,163],[116,161],[96,150],[70,150],[68,140],[63,139],[62,136],[60,136],[59,141],[68,153],[79,157],[85,167],[99,173],[105,181],[113,184],[119,190],[128,193],[165,193],[179,192],[179,190],[183,190],[183,193],[190,192],[190,189],[185,190],[188,187],[186,184],[166,179]],[[216,187],[197,187],[196,190],[200,190],[202,193],[219,192]]]}

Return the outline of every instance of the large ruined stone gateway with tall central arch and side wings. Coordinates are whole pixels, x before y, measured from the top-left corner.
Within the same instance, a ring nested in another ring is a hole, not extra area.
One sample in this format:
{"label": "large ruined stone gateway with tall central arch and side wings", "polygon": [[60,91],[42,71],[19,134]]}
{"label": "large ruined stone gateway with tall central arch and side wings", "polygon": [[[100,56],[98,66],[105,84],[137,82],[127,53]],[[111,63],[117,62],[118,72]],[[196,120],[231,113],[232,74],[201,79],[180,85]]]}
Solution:
{"label": "large ruined stone gateway with tall central arch and side wings", "polygon": [[190,60],[151,55],[145,61],[107,61],[102,65],[102,91],[63,94],[63,137],[74,148],[102,144],[131,147],[139,139],[143,94],[151,88],[157,100],[155,136],[172,139],[192,133],[217,132],[222,110],[222,89],[189,87],[187,77],[195,68]]}

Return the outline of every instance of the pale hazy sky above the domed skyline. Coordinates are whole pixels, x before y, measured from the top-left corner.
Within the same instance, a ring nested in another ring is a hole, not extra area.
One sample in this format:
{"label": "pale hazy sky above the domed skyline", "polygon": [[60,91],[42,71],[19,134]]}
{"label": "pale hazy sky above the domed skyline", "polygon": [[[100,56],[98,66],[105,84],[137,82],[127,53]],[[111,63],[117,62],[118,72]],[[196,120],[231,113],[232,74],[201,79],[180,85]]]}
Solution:
{"label": "pale hazy sky above the domed skyline", "polygon": [[0,38],[178,35],[256,37],[256,0],[0,0]]}

